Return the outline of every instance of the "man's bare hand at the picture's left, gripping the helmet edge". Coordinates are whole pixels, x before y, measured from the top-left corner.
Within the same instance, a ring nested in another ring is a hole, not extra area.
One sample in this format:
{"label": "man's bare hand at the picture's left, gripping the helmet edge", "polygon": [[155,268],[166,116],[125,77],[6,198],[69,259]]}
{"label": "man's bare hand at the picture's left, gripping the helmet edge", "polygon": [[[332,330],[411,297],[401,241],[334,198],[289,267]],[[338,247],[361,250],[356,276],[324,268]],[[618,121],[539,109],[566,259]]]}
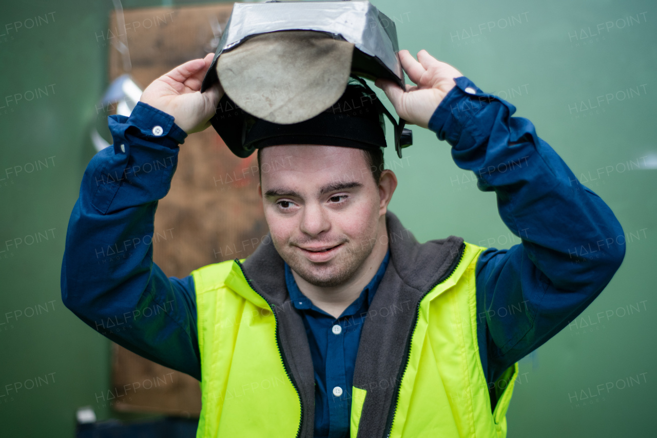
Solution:
{"label": "man's bare hand at the picture's left, gripping the helmet edge", "polygon": [[210,126],[217,103],[223,96],[221,85],[201,94],[201,83],[212,64],[214,54],[179,65],[148,85],[139,101],[162,110],[175,118],[174,122],[187,134]]}

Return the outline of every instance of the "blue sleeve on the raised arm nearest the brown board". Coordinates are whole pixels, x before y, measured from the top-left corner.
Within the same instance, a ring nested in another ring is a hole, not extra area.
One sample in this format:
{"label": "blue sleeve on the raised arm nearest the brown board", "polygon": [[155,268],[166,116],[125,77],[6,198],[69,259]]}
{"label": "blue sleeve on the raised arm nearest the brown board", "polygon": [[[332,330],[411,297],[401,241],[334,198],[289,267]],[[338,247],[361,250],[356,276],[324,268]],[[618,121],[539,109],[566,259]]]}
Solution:
{"label": "blue sleeve on the raised arm nearest the brown board", "polygon": [[62,301],[119,345],[200,379],[193,279],[152,260],[153,239],[174,237],[154,230],[154,214],[187,134],[145,103],[109,126],[114,145],[89,162],[68,223]]}

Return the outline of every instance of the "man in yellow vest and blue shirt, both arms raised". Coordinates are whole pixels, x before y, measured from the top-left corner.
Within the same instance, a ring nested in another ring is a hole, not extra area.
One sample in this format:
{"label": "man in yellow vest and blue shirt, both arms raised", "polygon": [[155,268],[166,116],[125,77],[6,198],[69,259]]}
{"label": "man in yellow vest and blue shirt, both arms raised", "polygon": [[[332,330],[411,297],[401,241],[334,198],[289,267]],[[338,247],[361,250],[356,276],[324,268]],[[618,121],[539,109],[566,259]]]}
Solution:
{"label": "man in yellow vest and blue shirt, both arms raised", "polygon": [[[199,437],[505,436],[517,361],[620,266],[614,214],[528,120],[426,51],[399,57],[417,85],[376,85],[495,191],[522,244],[420,244],[387,210],[397,180],[380,171],[378,148],[288,135],[259,149],[261,163],[288,163],[269,166],[258,186],[272,244],[182,280],[152,263],[150,245],[99,266],[98,248],[152,236],[175,158],[160,172],[127,170],[175,157],[209,126],[221,91],[198,90],[212,55],[150,84],[129,118],[110,119],[114,147],[87,167],[70,220],[62,299],[95,329],[164,309],[103,333],[202,381]],[[115,173],[120,181],[105,178]],[[587,260],[581,246],[601,256]],[[489,311],[499,308],[509,312]]]}

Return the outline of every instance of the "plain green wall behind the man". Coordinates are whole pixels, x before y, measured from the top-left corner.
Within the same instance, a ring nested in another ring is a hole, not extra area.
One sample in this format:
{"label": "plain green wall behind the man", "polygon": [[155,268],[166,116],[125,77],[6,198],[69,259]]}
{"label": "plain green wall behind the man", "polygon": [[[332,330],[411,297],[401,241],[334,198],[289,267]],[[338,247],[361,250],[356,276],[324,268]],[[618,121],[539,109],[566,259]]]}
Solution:
{"label": "plain green wall behind the man", "polygon": [[[654,436],[656,4],[373,3],[396,21],[402,48],[427,49],[516,105],[516,115],[532,120],[627,233],[623,266],[583,314],[599,324],[580,320],[522,360],[509,437]],[[164,2],[171,4],[185,3]],[[64,308],[59,287],[68,216],[93,156],[87,132],[105,123],[95,104],[107,85],[108,47],[95,35],[106,30],[111,8],[110,0],[0,5],[2,436],[70,437],[78,406],[113,416],[95,401],[110,386],[109,343]],[[39,26],[28,28],[35,17]],[[605,98],[598,108],[582,106],[589,99],[596,105],[599,96]],[[495,196],[476,189],[474,176],[453,164],[449,146],[426,130],[414,135],[402,160],[386,152],[399,177],[391,208],[405,226],[421,241],[454,234],[499,248],[518,243],[497,215]],[[637,375],[640,383],[629,380]],[[41,385],[14,391],[14,383],[35,377]],[[608,382],[608,392],[583,399],[582,391],[595,395]]]}

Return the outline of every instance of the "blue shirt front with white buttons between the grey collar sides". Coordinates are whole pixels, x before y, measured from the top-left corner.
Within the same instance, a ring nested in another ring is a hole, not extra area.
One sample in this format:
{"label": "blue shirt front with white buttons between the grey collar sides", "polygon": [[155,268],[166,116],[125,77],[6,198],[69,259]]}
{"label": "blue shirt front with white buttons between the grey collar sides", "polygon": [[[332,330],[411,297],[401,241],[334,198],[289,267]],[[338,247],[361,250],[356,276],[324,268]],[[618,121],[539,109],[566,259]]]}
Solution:
{"label": "blue shirt front with white buttons between the grey collar sides", "polygon": [[294,307],[301,311],[315,369],[315,438],[349,436],[351,383],[361,328],[388,260],[390,250],[372,280],[339,318],[315,306],[300,291],[290,266],[285,264],[288,293]]}

